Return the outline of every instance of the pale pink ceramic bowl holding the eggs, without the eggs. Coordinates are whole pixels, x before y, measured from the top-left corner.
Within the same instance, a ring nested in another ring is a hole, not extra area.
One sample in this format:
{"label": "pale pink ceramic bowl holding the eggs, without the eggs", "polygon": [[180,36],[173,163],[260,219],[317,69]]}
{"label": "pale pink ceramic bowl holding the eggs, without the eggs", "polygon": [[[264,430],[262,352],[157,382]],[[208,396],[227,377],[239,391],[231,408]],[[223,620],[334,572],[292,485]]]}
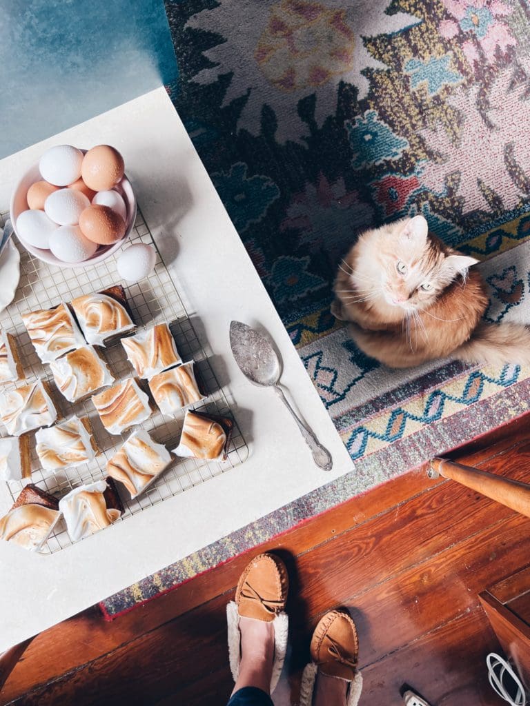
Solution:
{"label": "pale pink ceramic bowl holding the eggs, without the eggs", "polygon": [[[83,152],[84,151],[85,150],[83,150]],[[35,181],[39,181],[40,179],[42,179],[42,177],[40,175],[39,165],[33,164],[33,167],[28,169],[28,172],[26,172],[20,181],[18,181],[18,184],[16,184],[15,189],[13,190],[13,196],[11,196],[11,205],[9,207],[11,212],[11,222],[13,223],[13,229],[16,237],[28,252],[48,265],[57,265],[57,267],[60,268],[86,268],[89,265],[97,265],[98,263],[106,260],[112,255],[112,253],[122,247],[126,239],[131,234],[131,230],[133,229],[134,222],[136,220],[136,198],[134,198],[131,182],[127,179],[127,177],[123,177],[122,181],[114,187],[116,191],[123,196],[127,208],[125,235],[121,240],[117,241],[117,243],[107,246],[100,246],[98,250],[95,251],[93,256],[88,258],[88,260],[84,260],[81,263],[65,263],[52,255],[51,251],[35,248],[35,246],[30,245],[23,238],[21,238],[16,230],[16,221],[20,213],[28,210],[29,208],[28,201],[26,200],[28,189],[35,183]]]}

